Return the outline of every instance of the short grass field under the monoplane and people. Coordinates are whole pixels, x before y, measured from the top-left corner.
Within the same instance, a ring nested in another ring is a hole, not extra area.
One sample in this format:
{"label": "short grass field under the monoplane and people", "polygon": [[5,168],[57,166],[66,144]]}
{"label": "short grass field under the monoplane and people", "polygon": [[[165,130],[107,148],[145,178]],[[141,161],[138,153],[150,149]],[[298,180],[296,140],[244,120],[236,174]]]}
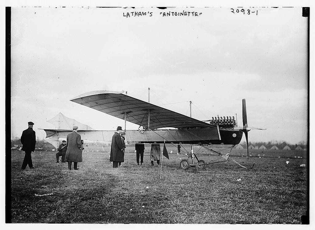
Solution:
{"label": "short grass field under the monoplane and people", "polygon": [[[197,171],[180,169],[180,159],[187,158],[183,148],[177,155],[168,146],[173,153],[163,159],[160,180],[161,168],[150,166],[149,145],[143,167],[136,166],[129,145],[116,169],[109,162],[110,147],[84,148],[76,171],[55,163],[53,151],[35,151],[35,168],[21,172],[24,152],[12,151],[13,223],[301,224],[306,214],[308,166],[300,167],[307,164],[305,151],[251,150],[247,162],[246,150],[233,150],[233,159],[245,166],[255,162],[253,169],[223,162]],[[206,162],[215,158],[200,156]]]}

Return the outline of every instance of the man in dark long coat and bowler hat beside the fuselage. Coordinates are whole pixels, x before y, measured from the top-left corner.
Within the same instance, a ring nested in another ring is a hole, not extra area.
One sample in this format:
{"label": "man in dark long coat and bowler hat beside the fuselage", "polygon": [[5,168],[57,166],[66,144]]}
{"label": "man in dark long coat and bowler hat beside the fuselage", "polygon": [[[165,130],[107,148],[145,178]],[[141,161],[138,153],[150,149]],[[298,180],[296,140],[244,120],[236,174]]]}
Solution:
{"label": "man in dark long coat and bowler hat beside the fuselage", "polygon": [[113,162],[113,168],[118,167],[118,162],[123,162],[123,144],[121,142],[120,133],[122,132],[121,126],[117,127],[117,131],[112,136],[112,146],[109,161]]}

